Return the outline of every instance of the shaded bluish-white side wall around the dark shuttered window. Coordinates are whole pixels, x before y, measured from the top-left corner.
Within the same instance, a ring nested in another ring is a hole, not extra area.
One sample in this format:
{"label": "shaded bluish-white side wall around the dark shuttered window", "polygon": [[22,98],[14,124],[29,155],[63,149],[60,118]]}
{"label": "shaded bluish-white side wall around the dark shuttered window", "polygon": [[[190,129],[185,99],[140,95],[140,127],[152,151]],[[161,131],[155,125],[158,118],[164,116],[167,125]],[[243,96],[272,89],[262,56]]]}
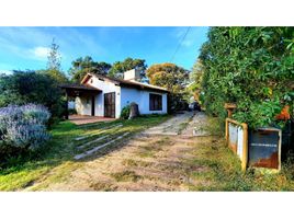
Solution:
{"label": "shaded bluish-white side wall around the dark shuttered window", "polygon": [[[162,95],[162,111],[149,111],[149,94],[150,93]],[[166,114],[168,113],[167,93],[122,88],[121,89],[122,108],[131,104],[132,102],[135,102],[136,104],[138,104],[140,114]]]}

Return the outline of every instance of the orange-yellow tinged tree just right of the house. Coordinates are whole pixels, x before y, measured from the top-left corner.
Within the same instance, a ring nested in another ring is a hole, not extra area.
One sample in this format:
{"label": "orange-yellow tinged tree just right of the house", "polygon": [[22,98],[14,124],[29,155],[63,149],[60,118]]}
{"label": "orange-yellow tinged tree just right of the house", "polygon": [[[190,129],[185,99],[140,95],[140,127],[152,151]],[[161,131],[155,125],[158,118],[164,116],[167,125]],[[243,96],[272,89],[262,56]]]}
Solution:
{"label": "orange-yellow tinged tree just right of the house", "polygon": [[189,71],[174,64],[158,64],[147,69],[150,83],[168,89],[170,94],[170,110],[183,108],[185,87],[189,82]]}

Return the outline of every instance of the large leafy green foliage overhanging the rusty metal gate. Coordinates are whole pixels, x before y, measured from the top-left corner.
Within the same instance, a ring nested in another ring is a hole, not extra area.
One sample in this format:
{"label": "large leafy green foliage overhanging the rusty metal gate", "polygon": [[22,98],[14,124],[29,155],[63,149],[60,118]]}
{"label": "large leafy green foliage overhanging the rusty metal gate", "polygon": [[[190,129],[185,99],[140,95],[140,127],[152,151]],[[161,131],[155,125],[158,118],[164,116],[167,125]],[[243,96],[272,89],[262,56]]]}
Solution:
{"label": "large leafy green foliage overhanging the rusty metal gate", "polygon": [[200,56],[206,111],[224,118],[234,102],[239,122],[281,125],[274,115],[293,108],[293,27],[212,27]]}

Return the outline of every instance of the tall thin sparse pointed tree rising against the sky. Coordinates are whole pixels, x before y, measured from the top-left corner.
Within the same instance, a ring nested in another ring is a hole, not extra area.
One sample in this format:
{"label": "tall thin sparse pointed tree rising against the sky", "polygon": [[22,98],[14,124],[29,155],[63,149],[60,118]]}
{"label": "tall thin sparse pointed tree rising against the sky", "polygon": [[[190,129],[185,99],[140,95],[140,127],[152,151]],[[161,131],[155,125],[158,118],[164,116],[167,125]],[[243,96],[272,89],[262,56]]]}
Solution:
{"label": "tall thin sparse pointed tree rising against the sky", "polygon": [[50,50],[48,53],[47,69],[41,70],[39,72],[50,76],[58,83],[66,83],[68,79],[66,74],[61,71],[61,56],[59,53],[59,46],[55,43],[53,38]]}

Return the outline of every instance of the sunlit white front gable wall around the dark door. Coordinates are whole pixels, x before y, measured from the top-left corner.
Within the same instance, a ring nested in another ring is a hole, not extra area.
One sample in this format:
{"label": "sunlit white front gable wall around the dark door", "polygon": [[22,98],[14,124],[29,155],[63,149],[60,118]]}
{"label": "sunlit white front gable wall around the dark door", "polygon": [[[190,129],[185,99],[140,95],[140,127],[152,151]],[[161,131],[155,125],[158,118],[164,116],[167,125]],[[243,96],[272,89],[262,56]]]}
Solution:
{"label": "sunlit white front gable wall around the dark door", "polygon": [[115,118],[118,118],[121,115],[121,87],[112,82],[101,81],[97,77],[92,77],[87,83],[102,91],[95,97],[95,116],[104,116],[104,93],[115,92]]}

